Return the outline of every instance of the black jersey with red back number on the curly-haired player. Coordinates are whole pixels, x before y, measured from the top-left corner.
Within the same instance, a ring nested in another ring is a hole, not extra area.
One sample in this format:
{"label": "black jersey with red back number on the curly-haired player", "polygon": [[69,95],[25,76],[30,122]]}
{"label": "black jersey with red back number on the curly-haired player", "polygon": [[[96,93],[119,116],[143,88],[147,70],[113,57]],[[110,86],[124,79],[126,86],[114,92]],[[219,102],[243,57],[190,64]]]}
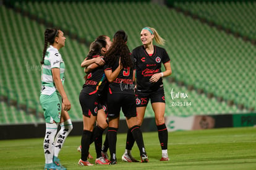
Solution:
{"label": "black jersey with red back number on the curly-haired player", "polygon": [[[131,55],[130,59],[134,64],[134,58]],[[119,58],[116,60],[113,66],[108,66],[108,64],[106,64],[105,70],[112,70],[114,72],[118,66]],[[123,68],[119,72],[119,75],[114,82],[109,83],[109,93],[134,94],[135,85],[133,81],[133,68],[134,66],[132,66],[132,68]]]}

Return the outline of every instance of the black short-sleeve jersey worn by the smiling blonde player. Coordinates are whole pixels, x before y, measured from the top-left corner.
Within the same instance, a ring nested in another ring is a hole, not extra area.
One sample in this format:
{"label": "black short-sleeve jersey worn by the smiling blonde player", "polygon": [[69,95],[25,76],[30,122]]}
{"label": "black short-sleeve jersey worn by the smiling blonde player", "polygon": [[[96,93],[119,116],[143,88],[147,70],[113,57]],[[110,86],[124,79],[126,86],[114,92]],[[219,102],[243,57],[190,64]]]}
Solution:
{"label": "black short-sleeve jersey worn by the smiling blonde player", "polygon": [[139,46],[132,51],[135,60],[137,91],[151,92],[163,87],[163,79],[151,83],[153,74],[161,72],[161,64],[169,62],[169,56],[164,48],[154,46],[154,53],[150,56],[144,46]]}

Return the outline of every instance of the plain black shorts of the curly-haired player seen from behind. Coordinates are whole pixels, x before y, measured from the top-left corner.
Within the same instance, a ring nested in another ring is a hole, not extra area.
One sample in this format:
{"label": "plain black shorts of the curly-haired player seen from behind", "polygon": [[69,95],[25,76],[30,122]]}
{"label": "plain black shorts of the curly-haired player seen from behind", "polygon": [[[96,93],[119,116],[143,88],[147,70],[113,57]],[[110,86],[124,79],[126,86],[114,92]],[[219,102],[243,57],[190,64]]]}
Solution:
{"label": "plain black shorts of the curly-haired player seen from behind", "polygon": [[108,94],[108,117],[120,116],[120,111],[126,117],[136,117],[136,102],[134,94]]}

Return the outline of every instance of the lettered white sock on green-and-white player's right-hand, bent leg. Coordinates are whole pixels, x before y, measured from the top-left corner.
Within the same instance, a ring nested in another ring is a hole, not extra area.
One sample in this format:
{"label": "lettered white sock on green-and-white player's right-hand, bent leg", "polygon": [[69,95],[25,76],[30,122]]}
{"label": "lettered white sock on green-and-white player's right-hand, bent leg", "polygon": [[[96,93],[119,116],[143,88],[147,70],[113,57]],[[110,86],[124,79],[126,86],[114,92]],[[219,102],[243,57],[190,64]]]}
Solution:
{"label": "lettered white sock on green-and-white player's right-hand, bent leg", "polygon": [[54,156],[56,157],[58,157],[59,151],[61,151],[61,148],[64,145],[67,136],[73,129],[73,125],[70,119],[60,123],[59,125],[61,125],[61,130],[59,130],[54,141]]}

